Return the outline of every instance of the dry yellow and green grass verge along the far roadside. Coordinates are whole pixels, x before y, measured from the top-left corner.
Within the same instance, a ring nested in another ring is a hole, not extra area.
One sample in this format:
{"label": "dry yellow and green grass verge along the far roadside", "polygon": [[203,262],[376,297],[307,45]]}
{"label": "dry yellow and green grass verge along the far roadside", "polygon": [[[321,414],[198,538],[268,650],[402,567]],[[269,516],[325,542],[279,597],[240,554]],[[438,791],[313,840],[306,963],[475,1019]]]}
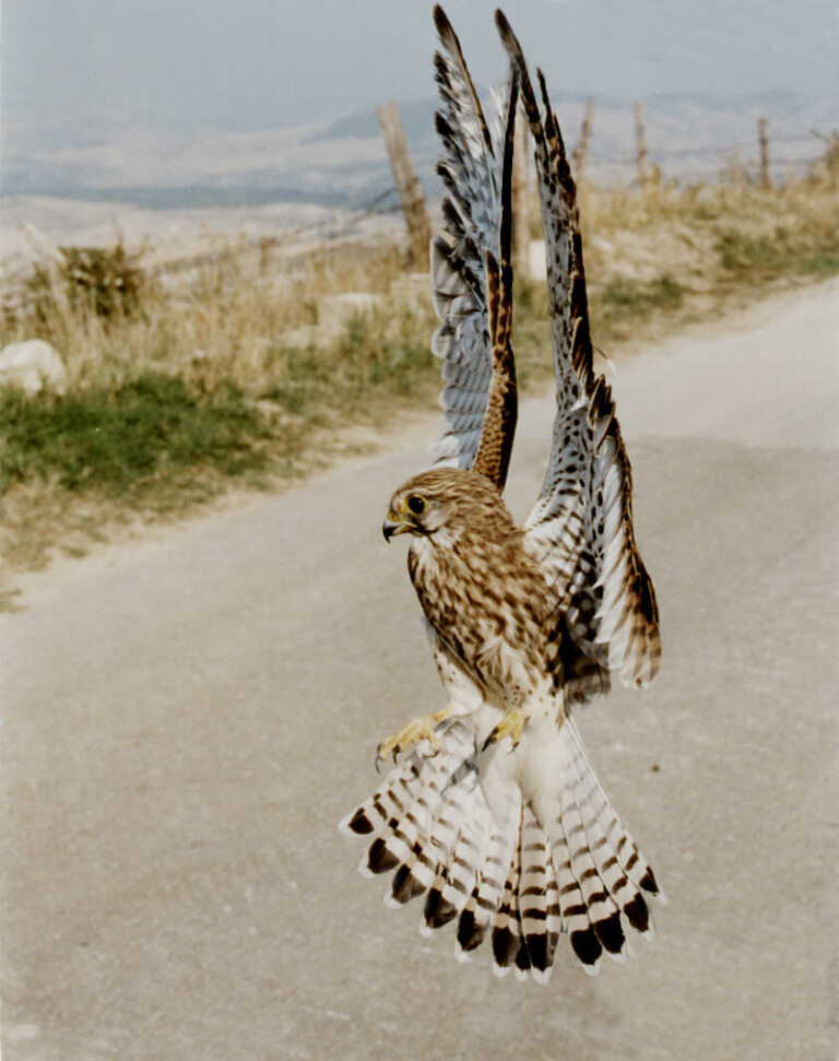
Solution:
{"label": "dry yellow and green grass verge along the far roadside", "polygon": [[[778,188],[583,187],[596,345],[619,359],[839,272],[838,156],[834,145]],[[552,368],[545,287],[522,272],[513,335],[527,390]],[[46,339],[69,376],[60,398],[0,391],[7,590],[56,551],[82,554],[232,484],[276,486],[363,448],[406,409],[430,408],[436,325],[427,280],[397,246],[297,259],[227,248],[176,276],[144,270],[121,245],[64,248],[0,321],[1,345]]]}

